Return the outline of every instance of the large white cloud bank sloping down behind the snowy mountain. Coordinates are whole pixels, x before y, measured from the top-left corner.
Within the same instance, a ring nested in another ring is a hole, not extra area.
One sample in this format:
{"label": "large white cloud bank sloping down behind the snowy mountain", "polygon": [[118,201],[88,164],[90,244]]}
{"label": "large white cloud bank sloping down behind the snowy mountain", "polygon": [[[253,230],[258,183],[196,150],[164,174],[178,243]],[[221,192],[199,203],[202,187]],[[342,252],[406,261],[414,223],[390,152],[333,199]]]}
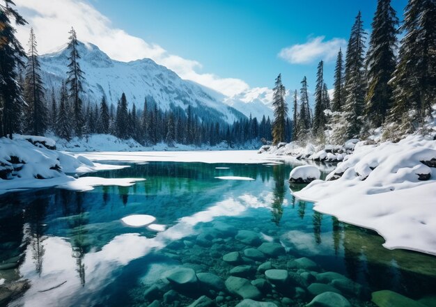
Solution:
{"label": "large white cloud bank sloping down behind the snowy mountain", "polygon": [[116,29],[111,21],[90,3],[77,0],[16,0],[17,8],[29,22],[17,29],[17,37],[25,46],[29,29],[33,26],[40,54],[53,51],[67,42],[68,31],[74,26],[77,37],[92,42],[118,61],[151,58],[158,64],[176,72],[182,79],[196,81],[227,96],[249,89],[241,79],[221,78],[215,74],[201,73],[201,63],[169,54],[157,44],[131,36]]}

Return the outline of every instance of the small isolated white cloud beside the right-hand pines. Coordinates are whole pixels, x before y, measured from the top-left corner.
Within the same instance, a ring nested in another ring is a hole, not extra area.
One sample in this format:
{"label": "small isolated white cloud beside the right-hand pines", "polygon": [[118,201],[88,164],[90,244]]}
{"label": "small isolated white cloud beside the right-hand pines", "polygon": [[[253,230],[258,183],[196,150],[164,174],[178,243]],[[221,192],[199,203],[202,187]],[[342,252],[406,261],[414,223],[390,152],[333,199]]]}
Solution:
{"label": "small isolated white cloud beside the right-hand pines", "polygon": [[343,38],[332,38],[324,41],[325,36],[309,38],[304,44],[296,44],[281,49],[279,57],[291,64],[307,64],[316,60],[331,61],[336,57],[340,47],[347,41]]}

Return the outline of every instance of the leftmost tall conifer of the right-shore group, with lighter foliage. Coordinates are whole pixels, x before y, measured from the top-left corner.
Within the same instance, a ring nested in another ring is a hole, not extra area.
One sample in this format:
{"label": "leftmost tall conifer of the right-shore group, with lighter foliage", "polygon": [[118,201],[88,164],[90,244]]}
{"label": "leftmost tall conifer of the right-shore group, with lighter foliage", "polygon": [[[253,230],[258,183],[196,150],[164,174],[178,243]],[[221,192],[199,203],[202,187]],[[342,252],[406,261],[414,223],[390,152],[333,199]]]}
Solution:
{"label": "leftmost tall conifer of the right-shore group, with lighter foliage", "polygon": [[288,117],[288,104],[285,100],[285,86],[281,83],[281,74],[277,76],[272,107],[274,108],[274,123],[272,124],[272,143],[276,145],[286,139],[286,118]]}

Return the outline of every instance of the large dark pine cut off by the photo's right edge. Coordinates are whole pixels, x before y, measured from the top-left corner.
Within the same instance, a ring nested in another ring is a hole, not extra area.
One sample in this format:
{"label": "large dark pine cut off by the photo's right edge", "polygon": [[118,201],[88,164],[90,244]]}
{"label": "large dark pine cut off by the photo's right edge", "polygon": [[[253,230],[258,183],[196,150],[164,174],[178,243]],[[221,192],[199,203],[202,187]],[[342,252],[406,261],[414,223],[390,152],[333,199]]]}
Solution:
{"label": "large dark pine cut off by the photo's right edge", "polygon": [[394,107],[389,115],[396,134],[412,132],[423,123],[436,100],[436,1],[410,0],[400,31],[405,36],[394,72]]}

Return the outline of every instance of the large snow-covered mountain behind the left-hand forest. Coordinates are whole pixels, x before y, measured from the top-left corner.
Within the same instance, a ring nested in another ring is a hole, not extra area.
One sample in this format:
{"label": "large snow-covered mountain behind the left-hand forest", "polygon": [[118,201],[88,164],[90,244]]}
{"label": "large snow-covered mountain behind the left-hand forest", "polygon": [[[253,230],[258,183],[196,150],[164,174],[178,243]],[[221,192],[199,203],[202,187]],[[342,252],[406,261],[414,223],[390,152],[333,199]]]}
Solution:
{"label": "large snow-covered mountain behind the left-hand forest", "polygon": [[[191,105],[193,113],[203,120],[233,123],[244,116],[271,116],[272,111],[263,102],[244,102],[237,97],[229,98],[215,90],[178,75],[157,65],[150,58],[137,61],[115,61],[91,43],[79,43],[80,65],[85,72],[85,101],[100,102],[105,95],[109,104],[118,102],[124,92],[127,102],[142,109],[144,99],[156,102],[163,110]],[[65,79],[68,63],[66,46],[57,52],[40,56],[42,79],[47,89],[59,88]],[[259,105],[261,104],[261,105]]]}

